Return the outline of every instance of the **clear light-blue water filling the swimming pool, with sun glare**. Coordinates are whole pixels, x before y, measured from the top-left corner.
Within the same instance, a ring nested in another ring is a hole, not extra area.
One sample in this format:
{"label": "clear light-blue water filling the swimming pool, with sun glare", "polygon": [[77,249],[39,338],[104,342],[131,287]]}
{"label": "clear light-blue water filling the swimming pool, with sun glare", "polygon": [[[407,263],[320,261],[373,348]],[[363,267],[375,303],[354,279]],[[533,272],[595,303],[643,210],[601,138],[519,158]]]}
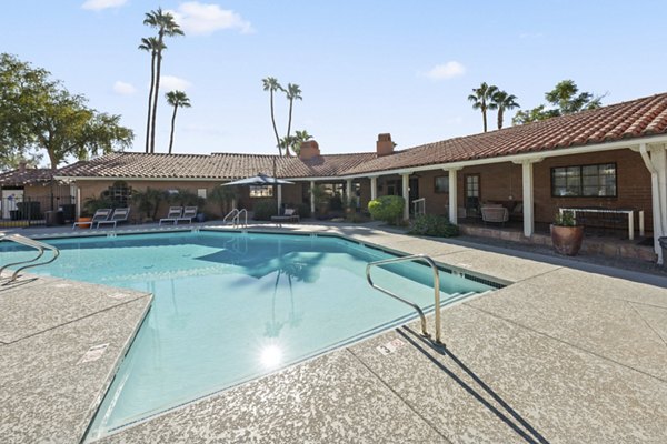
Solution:
{"label": "clear light-blue water filling the swimming pool, with sun glare", "polygon": [[[415,317],[366,282],[366,264],[391,255],[338,238],[202,231],[48,242],[61,258],[36,273],[155,294],[89,437]],[[28,254],[6,249],[2,262]],[[372,275],[432,309],[429,268]],[[492,290],[442,271],[440,282],[444,302]]]}

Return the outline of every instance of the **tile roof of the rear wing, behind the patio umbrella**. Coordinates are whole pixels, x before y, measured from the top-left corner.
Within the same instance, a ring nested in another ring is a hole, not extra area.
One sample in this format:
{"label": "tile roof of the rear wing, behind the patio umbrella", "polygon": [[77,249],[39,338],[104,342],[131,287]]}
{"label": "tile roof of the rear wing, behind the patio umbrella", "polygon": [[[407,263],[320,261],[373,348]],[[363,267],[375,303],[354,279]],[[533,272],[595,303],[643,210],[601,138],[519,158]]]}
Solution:
{"label": "tile roof of the rear wing, behind the patio umbrella", "polygon": [[261,154],[117,152],[64,167],[57,176],[233,180],[258,173],[272,175],[273,160],[279,178],[336,176],[375,158],[375,153],[331,154],[302,161]]}

